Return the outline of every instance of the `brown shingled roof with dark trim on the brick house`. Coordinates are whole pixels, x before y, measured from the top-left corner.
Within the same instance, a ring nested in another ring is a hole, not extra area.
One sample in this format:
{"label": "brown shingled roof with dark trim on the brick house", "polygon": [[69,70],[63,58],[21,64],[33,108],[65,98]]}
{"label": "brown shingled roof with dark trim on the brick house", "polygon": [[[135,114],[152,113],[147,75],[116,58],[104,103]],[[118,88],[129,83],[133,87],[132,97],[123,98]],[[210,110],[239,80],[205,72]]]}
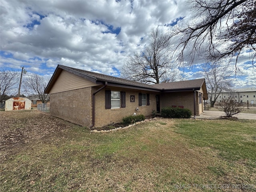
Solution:
{"label": "brown shingled roof with dark trim on the brick house", "polygon": [[[127,80],[124,78],[118,78],[114,76],[109,76],[105,74],[90,72],[86,70],[81,70],[77,68],[72,68],[68,66],[58,65],[52,78],[50,79],[48,85],[46,86],[44,92],[49,93],[54,82],[57,80],[58,76],[62,72],[62,70],[66,70],[72,74],[90,80],[98,85],[104,85],[105,82],[108,82],[108,86],[116,86],[122,88],[132,88],[138,90],[148,90],[154,92],[177,92],[177,91],[188,91],[188,90],[200,90],[200,88],[205,84],[204,79],[195,79],[195,80],[186,80],[179,82],[170,82],[170,83],[162,83],[162,84],[144,84],[140,82],[136,82],[133,80]],[[206,90],[206,87],[205,87]],[[204,93],[207,93],[204,92]]]}

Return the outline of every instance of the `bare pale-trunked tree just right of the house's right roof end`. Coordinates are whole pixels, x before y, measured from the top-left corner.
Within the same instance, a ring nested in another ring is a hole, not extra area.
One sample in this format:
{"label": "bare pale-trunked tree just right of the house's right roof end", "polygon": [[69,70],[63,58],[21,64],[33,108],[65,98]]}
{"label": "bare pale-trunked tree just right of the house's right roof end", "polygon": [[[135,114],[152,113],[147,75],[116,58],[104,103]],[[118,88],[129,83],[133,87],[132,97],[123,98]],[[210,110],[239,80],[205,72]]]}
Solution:
{"label": "bare pale-trunked tree just right of the house's right roof end", "polygon": [[232,72],[228,70],[227,64],[214,62],[203,64],[201,73],[206,81],[206,87],[210,99],[210,107],[214,107],[220,93],[231,90],[232,82],[230,78]]}

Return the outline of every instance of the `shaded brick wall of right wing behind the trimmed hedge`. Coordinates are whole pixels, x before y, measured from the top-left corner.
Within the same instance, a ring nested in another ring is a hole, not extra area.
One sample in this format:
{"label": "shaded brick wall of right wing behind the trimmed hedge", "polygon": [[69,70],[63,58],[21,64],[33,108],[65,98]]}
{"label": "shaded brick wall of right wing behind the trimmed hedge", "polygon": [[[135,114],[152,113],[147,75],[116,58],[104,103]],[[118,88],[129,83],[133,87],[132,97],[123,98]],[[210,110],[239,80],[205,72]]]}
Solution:
{"label": "shaded brick wall of right wing behind the trimmed hedge", "polygon": [[[170,107],[172,105],[184,106],[190,109],[194,114],[194,93],[193,92],[171,92],[164,93],[160,96],[161,108]],[[196,115],[202,113],[202,104],[199,104],[198,92],[196,92]]]}

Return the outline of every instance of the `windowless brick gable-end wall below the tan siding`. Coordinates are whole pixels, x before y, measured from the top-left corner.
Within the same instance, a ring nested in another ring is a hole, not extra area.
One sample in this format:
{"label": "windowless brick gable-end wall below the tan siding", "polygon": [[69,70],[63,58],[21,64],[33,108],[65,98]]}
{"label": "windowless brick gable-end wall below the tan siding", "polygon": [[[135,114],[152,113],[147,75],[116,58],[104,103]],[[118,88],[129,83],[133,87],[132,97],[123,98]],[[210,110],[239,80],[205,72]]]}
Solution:
{"label": "windowless brick gable-end wall below the tan siding", "polygon": [[91,87],[89,87],[50,94],[50,114],[89,127],[92,123],[91,92]]}

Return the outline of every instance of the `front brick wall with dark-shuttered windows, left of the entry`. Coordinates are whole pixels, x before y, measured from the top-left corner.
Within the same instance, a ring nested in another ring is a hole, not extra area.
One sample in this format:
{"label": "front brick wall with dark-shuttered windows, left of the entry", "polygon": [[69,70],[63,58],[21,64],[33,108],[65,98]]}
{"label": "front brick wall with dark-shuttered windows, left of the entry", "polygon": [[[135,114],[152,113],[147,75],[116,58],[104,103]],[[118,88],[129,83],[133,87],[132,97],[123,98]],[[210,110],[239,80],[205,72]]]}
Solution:
{"label": "front brick wall with dark-shuttered windows, left of the entry", "polygon": [[[124,91],[126,92],[126,107],[118,109],[105,109],[105,89],[98,92],[95,96],[95,127],[104,126],[106,124],[112,124],[122,122],[124,116],[129,116],[134,113],[144,114],[145,116],[151,115],[152,110],[156,110],[156,93],[136,90],[123,90],[119,88],[107,88],[112,91]],[[96,88],[94,88],[94,91]],[[139,106],[139,92],[150,94],[150,105]],[[130,96],[135,96],[135,102],[130,102]],[[136,108],[139,111],[136,111]]]}

